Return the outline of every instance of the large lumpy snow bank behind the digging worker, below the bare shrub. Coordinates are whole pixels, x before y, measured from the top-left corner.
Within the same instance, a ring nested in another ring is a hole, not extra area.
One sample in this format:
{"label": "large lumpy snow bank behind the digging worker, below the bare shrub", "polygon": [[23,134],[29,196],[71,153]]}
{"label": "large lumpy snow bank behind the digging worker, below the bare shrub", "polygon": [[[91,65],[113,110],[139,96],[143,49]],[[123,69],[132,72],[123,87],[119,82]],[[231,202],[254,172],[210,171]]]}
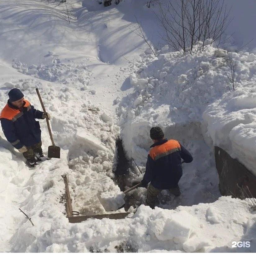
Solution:
{"label": "large lumpy snow bank behind the digging worker, below the bare shrub", "polygon": [[[208,144],[222,147],[256,173],[252,149],[256,137],[255,55],[227,53],[211,46],[193,55],[168,52],[166,47],[158,54],[157,58],[141,54],[137,64],[142,70],[130,75],[134,93],[119,103],[119,124],[129,156],[146,160],[149,129],[154,125],[167,133],[172,129],[175,138],[175,126],[203,122],[202,134]],[[236,89],[231,92],[226,85],[230,57],[237,63]]]}

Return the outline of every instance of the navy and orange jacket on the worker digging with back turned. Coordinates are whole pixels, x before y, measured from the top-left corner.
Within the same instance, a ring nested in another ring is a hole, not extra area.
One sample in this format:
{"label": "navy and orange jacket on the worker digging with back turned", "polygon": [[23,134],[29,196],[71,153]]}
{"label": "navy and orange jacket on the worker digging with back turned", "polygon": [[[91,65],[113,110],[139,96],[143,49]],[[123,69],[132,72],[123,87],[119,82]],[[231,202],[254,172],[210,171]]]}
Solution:
{"label": "navy and orange jacket on the worker digging with back turned", "polygon": [[177,140],[162,139],[149,151],[143,185],[151,184],[160,190],[177,187],[182,176],[181,158],[185,163],[193,160],[192,155]]}

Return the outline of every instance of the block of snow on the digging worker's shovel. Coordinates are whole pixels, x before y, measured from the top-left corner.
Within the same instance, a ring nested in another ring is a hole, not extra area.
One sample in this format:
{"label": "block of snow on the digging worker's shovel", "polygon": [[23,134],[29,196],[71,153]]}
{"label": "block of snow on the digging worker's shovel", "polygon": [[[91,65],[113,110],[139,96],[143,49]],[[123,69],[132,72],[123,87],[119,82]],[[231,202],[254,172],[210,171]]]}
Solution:
{"label": "block of snow on the digging worker's shovel", "polygon": [[125,194],[122,192],[103,192],[99,196],[99,201],[106,211],[116,211],[125,204],[124,197]]}

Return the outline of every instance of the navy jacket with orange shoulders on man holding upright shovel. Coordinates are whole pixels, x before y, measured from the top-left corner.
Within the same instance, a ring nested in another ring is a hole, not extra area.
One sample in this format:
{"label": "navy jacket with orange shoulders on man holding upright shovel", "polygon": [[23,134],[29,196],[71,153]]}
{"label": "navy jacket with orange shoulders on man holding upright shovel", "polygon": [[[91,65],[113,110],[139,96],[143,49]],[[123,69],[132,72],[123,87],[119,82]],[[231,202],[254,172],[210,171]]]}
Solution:
{"label": "navy jacket with orange shoulders on man holding upright shovel", "polygon": [[32,146],[41,141],[41,129],[39,122],[43,119],[43,112],[34,109],[29,101],[24,100],[22,108],[15,107],[7,102],[3,108],[0,120],[6,139],[16,148]]}

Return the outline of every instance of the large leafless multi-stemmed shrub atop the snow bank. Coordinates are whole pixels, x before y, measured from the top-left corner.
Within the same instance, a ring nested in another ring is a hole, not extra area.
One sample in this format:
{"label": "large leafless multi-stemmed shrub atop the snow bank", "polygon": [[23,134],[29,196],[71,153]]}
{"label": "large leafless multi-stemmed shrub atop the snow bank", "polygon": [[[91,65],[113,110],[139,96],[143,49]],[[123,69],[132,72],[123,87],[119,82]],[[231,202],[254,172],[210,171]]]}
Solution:
{"label": "large leafless multi-stemmed shrub atop the snow bank", "polygon": [[175,50],[192,52],[217,45],[231,23],[224,0],[169,0],[159,2],[156,14],[164,28],[162,39]]}

